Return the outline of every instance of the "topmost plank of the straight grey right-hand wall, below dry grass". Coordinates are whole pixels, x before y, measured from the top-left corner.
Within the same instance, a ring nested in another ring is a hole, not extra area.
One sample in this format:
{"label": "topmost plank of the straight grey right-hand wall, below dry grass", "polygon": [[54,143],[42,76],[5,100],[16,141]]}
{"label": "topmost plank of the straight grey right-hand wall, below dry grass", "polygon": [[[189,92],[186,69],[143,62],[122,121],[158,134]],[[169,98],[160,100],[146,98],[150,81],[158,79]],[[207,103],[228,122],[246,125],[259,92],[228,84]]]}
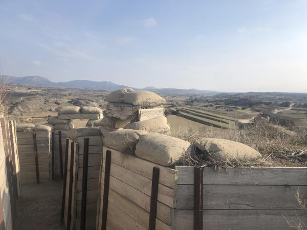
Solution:
{"label": "topmost plank of the straight grey right-hand wall, below dry grass", "polygon": [[[178,184],[194,182],[192,166],[176,166]],[[306,167],[204,168],[204,185],[307,185]]]}

